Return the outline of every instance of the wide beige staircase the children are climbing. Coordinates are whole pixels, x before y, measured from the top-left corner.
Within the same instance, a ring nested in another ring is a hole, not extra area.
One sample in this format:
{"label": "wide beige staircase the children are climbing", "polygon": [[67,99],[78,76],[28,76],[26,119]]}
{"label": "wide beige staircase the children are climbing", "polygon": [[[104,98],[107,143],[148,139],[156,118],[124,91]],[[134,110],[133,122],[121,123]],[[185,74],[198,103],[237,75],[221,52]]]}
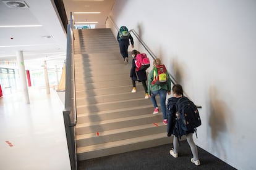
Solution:
{"label": "wide beige staircase the children are climbing", "polygon": [[171,143],[162,113],[153,115],[151,100],[144,99],[142,83],[130,92],[132,59],[124,65],[111,30],[74,30],[74,35],[78,160]]}

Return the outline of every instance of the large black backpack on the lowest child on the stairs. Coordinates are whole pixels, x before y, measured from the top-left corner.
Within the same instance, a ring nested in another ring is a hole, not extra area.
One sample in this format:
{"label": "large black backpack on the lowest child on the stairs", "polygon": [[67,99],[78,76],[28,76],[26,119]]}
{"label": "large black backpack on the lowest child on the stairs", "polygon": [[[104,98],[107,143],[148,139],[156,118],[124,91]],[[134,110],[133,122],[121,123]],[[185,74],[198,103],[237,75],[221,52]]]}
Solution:
{"label": "large black backpack on the lowest child on the stairs", "polygon": [[195,129],[197,136],[196,127],[202,124],[197,106],[187,97],[181,97],[176,102],[176,110],[181,114],[182,129],[184,131],[193,131]]}

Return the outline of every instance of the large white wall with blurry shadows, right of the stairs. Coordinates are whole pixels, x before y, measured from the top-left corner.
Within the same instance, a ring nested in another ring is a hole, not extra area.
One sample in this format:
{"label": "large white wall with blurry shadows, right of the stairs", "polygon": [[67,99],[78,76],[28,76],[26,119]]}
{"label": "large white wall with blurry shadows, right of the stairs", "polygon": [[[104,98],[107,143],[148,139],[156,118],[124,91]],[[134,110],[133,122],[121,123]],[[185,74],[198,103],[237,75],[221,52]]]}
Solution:
{"label": "large white wall with blurry shadows, right of the stairs", "polygon": [[[117,0],[111,18],[137,31],[202,105],[196,144],[234,168],[254,169],[256,1]],[[144,50],[137,41],[135,49]]]}

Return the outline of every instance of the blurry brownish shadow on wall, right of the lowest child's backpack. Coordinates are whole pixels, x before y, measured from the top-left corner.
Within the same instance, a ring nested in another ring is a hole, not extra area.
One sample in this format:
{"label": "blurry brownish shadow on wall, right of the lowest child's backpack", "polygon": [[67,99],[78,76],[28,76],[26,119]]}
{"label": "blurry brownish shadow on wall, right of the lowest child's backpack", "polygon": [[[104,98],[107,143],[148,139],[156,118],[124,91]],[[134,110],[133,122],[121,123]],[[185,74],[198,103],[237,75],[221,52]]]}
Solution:
{"label": "blurry brownish shadow on wall, right of the lowest child's backpack", "polygon": [[221,154],[226,157],[225,144],[229,144],[227,124],[230,124],[232,120],[231,116],[228,115],[228,113],[230,113],[228,106],[221,100],[220,96],[220,92],[218,92],[215,86],[209,88],[210,114],[208,124],[211,127],[210,135],[213,141],[212,148],[215,148],[215,152],[217,152],[218,155]]}

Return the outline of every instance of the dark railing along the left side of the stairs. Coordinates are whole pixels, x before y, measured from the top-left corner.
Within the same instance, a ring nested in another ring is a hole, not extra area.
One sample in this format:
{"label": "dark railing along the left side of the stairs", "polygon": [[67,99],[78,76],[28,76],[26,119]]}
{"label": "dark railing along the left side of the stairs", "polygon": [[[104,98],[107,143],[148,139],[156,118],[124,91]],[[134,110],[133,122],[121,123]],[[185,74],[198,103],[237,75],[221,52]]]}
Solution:
{"label": "dark railing along the left side of the stairs", "polygon": [[77,110],[75,100],[75,69],[74,69],[74,23],[70,12],[70,24],[67,25],[67,59],[66,59],[66,87],[65,108],[63,112],[66,130],[67,148],[72,170],[77,169],[77,155],[75,145],[75,125],[77,124]]}

